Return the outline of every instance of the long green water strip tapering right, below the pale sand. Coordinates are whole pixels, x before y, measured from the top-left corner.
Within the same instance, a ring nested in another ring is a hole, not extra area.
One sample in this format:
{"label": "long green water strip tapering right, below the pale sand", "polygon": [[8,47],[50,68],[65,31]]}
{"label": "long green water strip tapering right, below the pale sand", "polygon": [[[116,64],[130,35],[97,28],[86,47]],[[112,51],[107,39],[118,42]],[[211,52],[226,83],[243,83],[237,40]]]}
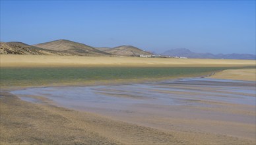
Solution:
{"label": "long green water strip tapering right, below the pale sand", "polygon": [[115,80],[154,80],[202,76],[224,69],[250,67],[59,67],[59,68],[8,68],[1,67],[1,88],[15,86],[81,85]]}

